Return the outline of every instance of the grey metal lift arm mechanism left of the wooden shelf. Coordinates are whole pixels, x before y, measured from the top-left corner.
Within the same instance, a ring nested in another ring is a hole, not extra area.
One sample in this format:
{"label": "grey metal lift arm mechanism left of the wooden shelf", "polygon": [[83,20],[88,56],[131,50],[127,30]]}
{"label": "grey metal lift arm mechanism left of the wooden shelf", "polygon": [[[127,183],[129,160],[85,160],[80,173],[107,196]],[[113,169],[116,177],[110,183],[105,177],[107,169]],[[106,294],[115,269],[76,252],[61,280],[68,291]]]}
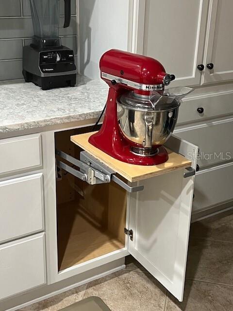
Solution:
{"label": "grey metal lift arm mechanism left of the wooden shelf", "polygon": [[[80,153],[80,160],[74,158],[71,155],[67,155],[61,150],[55,150],[55,155],[72,163],[80,170],[67,165],[66,163],[56,159],[56,166],[60,169],[67,171],[68,173],[78,177],[79,179],[86,181],[89,185],[106,184],[114,181],[123,189],[128,192],[137,192],[144,189],[144,186],[131,186],[116,176],[116,172],[110,169],[107,165],[100,162],[94,156],[88,154],[86,151]],[[57,169],[57,168],[56,168]]]}

